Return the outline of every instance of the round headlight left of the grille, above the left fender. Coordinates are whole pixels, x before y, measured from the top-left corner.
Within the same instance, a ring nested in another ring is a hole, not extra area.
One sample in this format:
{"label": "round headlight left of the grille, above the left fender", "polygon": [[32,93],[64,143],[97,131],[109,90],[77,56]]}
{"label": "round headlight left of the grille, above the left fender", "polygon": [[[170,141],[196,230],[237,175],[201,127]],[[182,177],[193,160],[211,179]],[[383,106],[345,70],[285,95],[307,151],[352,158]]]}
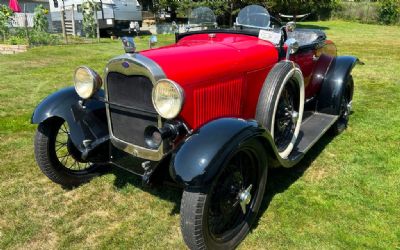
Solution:
{"label": "round headlight left of the grille, above the left fender", "polygon": [[76,93],[83,99],[92,97],[103,84],[99,74],[85,66],[75,70],[74,82]]}

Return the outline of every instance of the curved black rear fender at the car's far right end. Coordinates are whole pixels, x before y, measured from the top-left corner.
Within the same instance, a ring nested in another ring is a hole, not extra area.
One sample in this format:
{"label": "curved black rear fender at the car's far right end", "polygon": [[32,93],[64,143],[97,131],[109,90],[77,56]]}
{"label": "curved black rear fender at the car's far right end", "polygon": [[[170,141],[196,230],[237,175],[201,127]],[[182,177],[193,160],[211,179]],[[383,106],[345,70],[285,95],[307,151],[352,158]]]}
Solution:
{"label": "curved black rear fender at the car's far right end", "polygon": [[[358,58],[354,56],[338,56],[332,61],[318,96],[318,112],[339,115],[340,97],[351,71],[358,62]],[[351,91],[353,92],[353,89]]]}

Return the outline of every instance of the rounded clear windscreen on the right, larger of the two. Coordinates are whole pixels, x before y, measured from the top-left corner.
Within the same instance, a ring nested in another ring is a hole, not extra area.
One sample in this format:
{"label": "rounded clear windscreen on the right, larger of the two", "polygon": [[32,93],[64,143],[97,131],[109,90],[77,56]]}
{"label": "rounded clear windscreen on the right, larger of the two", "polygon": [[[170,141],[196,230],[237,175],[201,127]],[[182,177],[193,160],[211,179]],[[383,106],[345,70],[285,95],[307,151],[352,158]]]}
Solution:
{"label": "rounded clear windscreen on the right, larger of the two", "polygon": [[268,29],[270,27],[270,15],[268,11],[259,5],[249,5],[240,10],[236,18],[237,26]]}

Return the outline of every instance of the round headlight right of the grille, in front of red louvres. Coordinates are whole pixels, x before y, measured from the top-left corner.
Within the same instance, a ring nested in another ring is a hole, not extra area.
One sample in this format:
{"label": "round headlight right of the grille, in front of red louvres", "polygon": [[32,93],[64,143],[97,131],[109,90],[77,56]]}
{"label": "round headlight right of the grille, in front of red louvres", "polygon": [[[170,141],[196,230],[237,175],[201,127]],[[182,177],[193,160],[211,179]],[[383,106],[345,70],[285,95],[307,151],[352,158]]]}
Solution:
{"label": "round headlight right of the grille, in front of red louvres", "polygon": [[184,94],[182,88],[168,79],[159,80],[153,88],[154,108],[165,119],[173,119],[181,112]]}

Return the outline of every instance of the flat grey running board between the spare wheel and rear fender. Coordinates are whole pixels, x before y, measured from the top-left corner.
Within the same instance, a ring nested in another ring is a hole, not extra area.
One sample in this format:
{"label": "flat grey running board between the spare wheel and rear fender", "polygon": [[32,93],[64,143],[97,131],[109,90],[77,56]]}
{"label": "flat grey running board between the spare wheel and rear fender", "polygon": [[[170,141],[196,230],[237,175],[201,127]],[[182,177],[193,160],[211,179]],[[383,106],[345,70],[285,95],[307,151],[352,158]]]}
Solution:
{"label": "flat grey running board between the spare wheel and rear fender", "polygon": [[289,160],[297,160],[307,153],[337,119],[336,115],[315,112],[303,120],[297,142],[288,157]]}

